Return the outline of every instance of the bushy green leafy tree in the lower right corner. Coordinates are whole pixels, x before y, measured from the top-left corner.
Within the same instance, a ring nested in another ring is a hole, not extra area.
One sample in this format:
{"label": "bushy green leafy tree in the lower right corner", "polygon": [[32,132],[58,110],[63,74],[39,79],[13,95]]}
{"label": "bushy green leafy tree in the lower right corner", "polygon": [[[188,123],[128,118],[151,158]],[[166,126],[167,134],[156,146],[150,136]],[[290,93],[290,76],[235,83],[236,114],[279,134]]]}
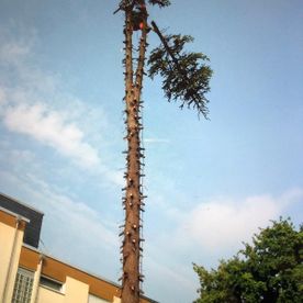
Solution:
{"label": "bushy green leafy tree in the lower right corner", "polygon": [[296,231],[290,220],[273,221],[217,269],[193,265],[201,284],[195,303],[303,302],[302,260],[302,226]]}

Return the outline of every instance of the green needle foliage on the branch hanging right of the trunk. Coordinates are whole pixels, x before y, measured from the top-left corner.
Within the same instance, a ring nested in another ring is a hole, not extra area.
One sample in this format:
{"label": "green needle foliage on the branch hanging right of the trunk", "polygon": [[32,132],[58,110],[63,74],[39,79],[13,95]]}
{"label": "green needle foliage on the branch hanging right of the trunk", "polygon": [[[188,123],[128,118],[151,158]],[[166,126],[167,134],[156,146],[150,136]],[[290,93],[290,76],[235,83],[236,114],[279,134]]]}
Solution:
{"label": "green needle foliage on the branch hanging right of the trunk", "polygon": [[169,101],[179,100],[180,108],[187,104],[207,117],[209,100],[205,93],[210,91],[212,77],[207,56],[183,50],[187,43],[193,42],[189,35],[167,35],[162,38],[165,43],[150,53],[149,77],[162,77],[162,90]]}

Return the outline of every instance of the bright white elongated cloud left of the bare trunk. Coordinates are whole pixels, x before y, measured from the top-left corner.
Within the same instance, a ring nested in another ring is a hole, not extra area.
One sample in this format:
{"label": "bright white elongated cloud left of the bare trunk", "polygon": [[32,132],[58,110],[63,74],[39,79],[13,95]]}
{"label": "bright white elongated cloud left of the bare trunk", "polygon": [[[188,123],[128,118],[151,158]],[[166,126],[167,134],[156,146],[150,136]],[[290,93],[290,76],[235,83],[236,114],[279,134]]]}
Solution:
{"label": "bright white elongated cloud left of the bare trunk", "polygon": [[64,116],[43,104],[18,104],[3,113],[3,123],[11,132],[25,134],[72,158],[80,166],[99,165],[98,152],[85,141],[85,134]]}

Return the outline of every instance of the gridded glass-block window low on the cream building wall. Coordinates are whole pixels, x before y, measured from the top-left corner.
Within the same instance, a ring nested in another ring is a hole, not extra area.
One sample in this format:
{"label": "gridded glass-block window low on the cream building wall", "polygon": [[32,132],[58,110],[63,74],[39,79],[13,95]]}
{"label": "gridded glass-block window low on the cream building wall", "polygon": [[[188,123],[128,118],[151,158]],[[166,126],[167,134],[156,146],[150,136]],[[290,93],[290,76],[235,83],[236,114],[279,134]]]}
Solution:
{"label": "gridded glass-block window low on the cream building wall", "polygon": [[12,303],[30,303],[33,290],[34,273],[19,268],[14,282]]}

